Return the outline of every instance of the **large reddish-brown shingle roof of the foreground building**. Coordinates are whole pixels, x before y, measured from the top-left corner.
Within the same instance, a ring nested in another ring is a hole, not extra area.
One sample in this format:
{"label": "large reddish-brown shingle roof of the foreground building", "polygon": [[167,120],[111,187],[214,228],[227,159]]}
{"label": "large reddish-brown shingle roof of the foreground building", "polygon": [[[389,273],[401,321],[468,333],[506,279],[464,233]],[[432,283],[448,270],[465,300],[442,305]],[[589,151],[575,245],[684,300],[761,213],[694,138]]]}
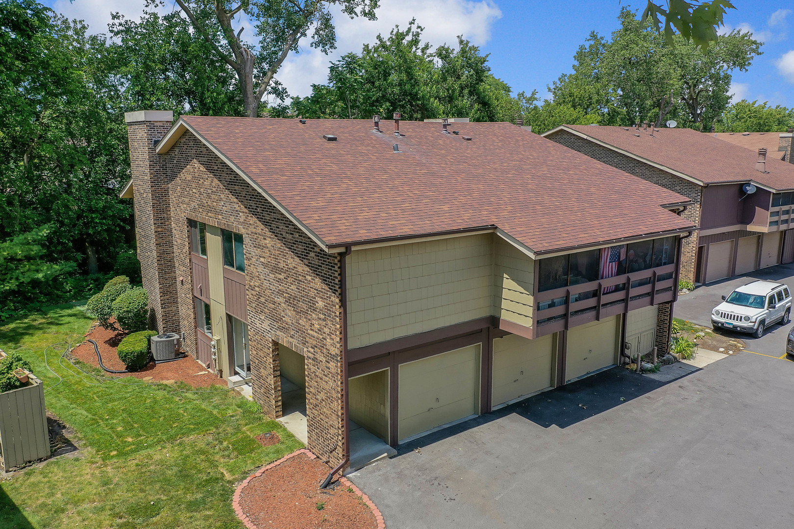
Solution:
{"label": "large reddish-brown shingle roof of the foreground building", "polygon": [[182,119],[329,246],[494,226],[540,252],[692,228],[660,207],[686,197],[507,123],[403,121],[398,138],[387,121]]}

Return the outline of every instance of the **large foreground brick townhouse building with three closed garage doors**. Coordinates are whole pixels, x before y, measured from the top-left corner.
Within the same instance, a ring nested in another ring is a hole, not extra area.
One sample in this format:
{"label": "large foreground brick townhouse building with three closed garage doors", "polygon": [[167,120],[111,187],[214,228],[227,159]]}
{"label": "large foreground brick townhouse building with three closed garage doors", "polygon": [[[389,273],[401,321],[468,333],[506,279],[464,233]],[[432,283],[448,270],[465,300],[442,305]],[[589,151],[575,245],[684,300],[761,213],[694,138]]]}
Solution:
{"label": "large foreground brick townhouse building with three closed garage doors", "polygon": [[333,464],[669,344],[691,201],[523,128],[126,121],[152,325]]}

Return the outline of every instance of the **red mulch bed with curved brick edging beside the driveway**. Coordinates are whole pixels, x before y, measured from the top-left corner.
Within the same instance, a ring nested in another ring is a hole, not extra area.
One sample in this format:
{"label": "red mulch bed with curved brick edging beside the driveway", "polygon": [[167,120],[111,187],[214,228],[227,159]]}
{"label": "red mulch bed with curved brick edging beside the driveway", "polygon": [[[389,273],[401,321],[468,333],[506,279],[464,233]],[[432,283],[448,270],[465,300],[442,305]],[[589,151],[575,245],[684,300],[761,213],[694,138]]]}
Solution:
{"label": "red mulch bed with curved brick edging beside the driveway", "polygon": [[[345,485],[337,481],[320,489],[330,471],[318,459],[298,454],[249,481],[240,507],[259,529],[377,529],[372,510]],[[322,510],[320,502],[325,502]]]}

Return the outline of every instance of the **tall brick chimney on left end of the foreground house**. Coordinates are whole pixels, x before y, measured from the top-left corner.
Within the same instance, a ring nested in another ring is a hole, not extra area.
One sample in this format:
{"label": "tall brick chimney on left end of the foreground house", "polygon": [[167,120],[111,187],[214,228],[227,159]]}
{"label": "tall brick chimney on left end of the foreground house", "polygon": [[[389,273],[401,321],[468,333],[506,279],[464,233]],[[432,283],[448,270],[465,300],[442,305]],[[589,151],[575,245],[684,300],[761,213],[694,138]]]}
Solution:
{"label": "tall brick chimney on left end of the foreground house", "polygon": [[141,110],[124,114],[133,174],[135,236],[141,276],[149,298],[149,324],[158,332],[179,332],[170,176],[165,155],[155,152],[171,128],[174,113]]}

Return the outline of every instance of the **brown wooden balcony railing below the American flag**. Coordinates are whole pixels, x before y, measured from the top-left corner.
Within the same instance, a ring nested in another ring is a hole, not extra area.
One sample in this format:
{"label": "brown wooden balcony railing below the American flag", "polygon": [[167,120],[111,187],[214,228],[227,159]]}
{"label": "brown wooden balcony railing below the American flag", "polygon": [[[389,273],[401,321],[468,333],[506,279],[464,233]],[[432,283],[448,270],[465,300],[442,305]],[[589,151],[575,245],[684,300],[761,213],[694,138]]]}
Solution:
{"label": "brown wooden balcony railing below the American flag", "polygon": [[535,336],[675,301],[677,293],[674,263],[539,292],[535,296]]}

